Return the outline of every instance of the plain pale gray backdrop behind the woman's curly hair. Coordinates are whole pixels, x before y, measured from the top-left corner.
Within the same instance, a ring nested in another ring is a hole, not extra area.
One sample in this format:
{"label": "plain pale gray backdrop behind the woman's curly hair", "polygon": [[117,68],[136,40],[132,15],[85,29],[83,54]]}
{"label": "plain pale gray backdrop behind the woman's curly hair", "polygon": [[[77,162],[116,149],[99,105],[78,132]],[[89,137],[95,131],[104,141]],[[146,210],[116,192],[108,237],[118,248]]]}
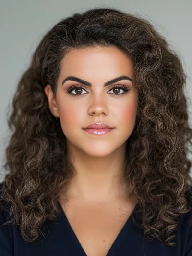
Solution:
{"label": "plain pale gray backdrop behind the woman's curly hair", "polygon": [[[192,99],[192,0],[0,0],[0,182],[10,134],[7,107],[31,55],[61,18],[95,7],[117,8],[150,20],[179,54],[189,77],[185,92]],[[188,110],[192,125],[191,102]]]}

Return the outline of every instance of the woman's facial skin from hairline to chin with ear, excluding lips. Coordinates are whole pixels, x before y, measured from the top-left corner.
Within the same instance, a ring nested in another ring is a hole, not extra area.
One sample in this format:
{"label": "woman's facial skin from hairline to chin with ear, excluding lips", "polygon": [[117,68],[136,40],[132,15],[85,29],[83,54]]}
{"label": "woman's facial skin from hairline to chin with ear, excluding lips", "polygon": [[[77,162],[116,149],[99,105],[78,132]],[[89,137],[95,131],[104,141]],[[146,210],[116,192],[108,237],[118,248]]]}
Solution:
{"label": "woman's facial skin from hairline to chin with ear, excluding lips", "polygon": [[[68,76],[84,80],[90,86],[72,80],[63,83]],[[127,76],[132,81],[122,79],[104,86],[121,76]],[[69,93],[74,85],[79,88],[73,87]],[[129,91],[118,89],[118,86]],[[120,148],[132,134],[138,102],[133,64],[116,47],[71,50],[61,62],[56,98],[53,99],[49,85],[45,93],[52,114],[60,118],[68,147],[93,157],[103,157]],[[105,135],[91,135],[83,128],[93,122],[102,122],[114,129]]]}

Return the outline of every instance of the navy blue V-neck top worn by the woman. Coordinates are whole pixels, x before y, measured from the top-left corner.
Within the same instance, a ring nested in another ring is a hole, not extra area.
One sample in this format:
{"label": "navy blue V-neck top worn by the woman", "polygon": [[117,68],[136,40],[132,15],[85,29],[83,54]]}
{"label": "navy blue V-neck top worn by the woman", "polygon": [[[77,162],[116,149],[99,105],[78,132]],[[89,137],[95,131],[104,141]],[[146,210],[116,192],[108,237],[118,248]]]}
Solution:
{"label": "navy blue V-neck top worn by the woman", "polygon": [[[8,210],[1,207],[0,256],[86,256],[59,202],[58,206],[60,217],[57,221],[46,220],[45,237],[40,243],[25,242],[12,223],[2,226],[10,218]],[[137,205],[106,256],[192,256],[192,210],[180,216],[177,245],[168,246],[144,238],[143,230],[132,220],[136,209]]]}

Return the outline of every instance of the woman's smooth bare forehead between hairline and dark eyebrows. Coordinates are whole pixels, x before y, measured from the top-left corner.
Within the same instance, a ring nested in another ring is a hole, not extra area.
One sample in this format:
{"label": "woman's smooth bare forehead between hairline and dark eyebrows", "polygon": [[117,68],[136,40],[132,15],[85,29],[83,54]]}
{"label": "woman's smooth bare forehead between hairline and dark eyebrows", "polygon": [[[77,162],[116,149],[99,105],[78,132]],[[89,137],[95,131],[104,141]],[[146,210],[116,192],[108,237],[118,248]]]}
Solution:
{"label": "woman's smooth bare forehead between hairline and dark eyebrows", "polygon": [[71,49],[61,61],[61,72],[66,75],[74,75],[74,72],[76,75],[104,72],[132,75],[133,64],[131,58],[117,47],[87,47]]}

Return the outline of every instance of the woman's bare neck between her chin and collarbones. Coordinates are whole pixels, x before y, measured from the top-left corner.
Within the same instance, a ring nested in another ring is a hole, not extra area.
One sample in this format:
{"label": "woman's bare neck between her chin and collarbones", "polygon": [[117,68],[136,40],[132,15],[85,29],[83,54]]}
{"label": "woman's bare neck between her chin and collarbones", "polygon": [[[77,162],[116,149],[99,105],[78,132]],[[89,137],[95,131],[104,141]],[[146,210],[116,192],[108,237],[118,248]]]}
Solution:
{"label": "woman's bare neck between her chin and collarbones", "polygon": [[76,171],[67,197],[82,202],[107,202],[127,197],[124,179],[125,144],[105,157],[85,154],[68,145],[68,159]]}

